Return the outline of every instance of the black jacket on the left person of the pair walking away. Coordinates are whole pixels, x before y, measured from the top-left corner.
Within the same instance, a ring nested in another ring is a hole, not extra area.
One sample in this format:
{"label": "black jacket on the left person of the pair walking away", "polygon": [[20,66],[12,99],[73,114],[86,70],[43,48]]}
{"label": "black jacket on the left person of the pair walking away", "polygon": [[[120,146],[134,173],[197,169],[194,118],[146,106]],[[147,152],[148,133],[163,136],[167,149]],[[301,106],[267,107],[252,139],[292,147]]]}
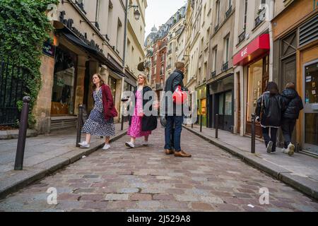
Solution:
{"label": "black jacket on the left person of the pair walking away", "polygon": [[[262,101],[263,100],[263,101]],[[257,100],[255,114],[261,117],[262,126],[281,126],[282,112],[285,110],[283,97],[279,94],[265,92]]]}

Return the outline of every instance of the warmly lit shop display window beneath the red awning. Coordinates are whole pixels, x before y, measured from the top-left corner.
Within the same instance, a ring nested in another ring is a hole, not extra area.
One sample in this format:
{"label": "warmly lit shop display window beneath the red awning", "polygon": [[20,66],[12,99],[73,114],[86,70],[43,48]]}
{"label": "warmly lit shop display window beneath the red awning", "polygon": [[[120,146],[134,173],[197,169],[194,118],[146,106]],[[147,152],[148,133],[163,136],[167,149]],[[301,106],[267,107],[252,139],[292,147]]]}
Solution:
{"label": "warmly lit shop display window beneath the red awning", "polygon": [[247,91],[247,121],[252,121],[252,113],[257,107],[257,100],[262,93],[263,59],[249,66]]}

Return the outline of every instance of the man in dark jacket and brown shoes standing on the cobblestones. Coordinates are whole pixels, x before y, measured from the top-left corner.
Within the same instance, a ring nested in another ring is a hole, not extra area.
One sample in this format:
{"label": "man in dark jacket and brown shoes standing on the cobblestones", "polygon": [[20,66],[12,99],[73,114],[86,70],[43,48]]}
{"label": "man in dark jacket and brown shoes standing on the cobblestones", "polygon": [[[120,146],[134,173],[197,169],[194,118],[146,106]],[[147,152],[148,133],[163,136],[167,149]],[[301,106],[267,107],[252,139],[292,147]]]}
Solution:
{"label": "man in dark jacket and brown shoes standing on the cobblestones", "polygon": [[[183,79],[184,79],[184,63],[177,62],[175,64],[175,71],[167,78],[165,83],[165,93],[171,92],[174,93],[178,87],[181,87],[182,90],[185,90]],[[165,154],[172,155],[175,157],[192,157],[192,155],[187,154],[184,150],[181,149],[180,138],[182,132],[182,121],[183,121],[183,111],[177,112],[177,104],[173,102],[172,98],[165,98],[165,114],[167,117],[167,125],[165,126]],[[172,105],[168,102],[173,102]],[[168,106],[173,107],[173,112],[171,109],[168,109]],[[181,106],[183,108],[183,106]],[[182,109],[181,108],[181,109]],[[180,108],[179,108],[180,109]],[[170,111],[169,111],[170,110]],[[172,116],[168,114],[172,112]],[[172,128],[175,126],[172,136]],[[174,149],[172,150],[171,138],[174,138],[173,144]]]}

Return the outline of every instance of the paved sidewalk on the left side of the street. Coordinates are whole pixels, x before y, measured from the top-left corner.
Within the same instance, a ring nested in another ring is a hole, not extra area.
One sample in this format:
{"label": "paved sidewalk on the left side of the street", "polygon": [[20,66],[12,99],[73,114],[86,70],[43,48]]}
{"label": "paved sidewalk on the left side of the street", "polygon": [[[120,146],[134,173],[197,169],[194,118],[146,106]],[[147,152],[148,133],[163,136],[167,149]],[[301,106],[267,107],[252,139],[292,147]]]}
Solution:
{"label": "paved sidewalk on the left side of the street", "polygon": [[[125,123],[124,130],[121,131],[121,124],[115,124],[116,136],[111,138],[111,142],[124,136],[127,127],[128,123]],[[83,135],[81,141],[84,140]],[[105,139],[92,137],[90,148],[76,148],[75,128],[27,138],[21,171],[14,170],[17,143],[18,139],[0,140],[0,198],[102,148]]]}

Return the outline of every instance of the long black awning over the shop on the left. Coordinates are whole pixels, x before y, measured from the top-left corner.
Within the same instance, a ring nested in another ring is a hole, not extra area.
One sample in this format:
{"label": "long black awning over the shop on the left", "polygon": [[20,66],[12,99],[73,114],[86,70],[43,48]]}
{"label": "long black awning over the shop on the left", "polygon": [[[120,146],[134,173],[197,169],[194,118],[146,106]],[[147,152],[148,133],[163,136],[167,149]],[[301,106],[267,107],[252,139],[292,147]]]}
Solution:
{"label": "long black awning over the shop on the left", "polygon": [[86,42],[83,42],[83,40],[77,37],[71,30],[69,30],[69,28],[66,28],[64,26],[64,28],[57,30],[61,32],[67,40],[85,49],[92,57],[100,61],[101,64],[105,64],[114,73],[117,73],[122,77],[125,76],[124,73],[120,71],[120,69],[117,69],[117,66],[112,64],[112,62],[107,59],[104,54],[102,54],[102,52],[94,49],[93,47],[90,47],[88,44],[86,44]]}

